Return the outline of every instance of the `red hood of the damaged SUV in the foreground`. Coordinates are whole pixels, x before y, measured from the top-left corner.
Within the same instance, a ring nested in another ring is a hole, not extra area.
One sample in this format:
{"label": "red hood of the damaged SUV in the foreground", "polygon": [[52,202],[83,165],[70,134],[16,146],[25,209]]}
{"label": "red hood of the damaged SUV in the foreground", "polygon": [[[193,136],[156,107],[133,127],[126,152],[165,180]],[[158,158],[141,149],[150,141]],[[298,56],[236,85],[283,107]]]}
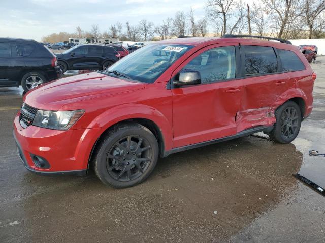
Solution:
{"label": "red hood of the damaged SUV in the foreground", "polygon": [[138,83],[92,72],[62,78],[29,91],[24,101],[35,108],[59,110],[62,106],[86,99],[135,91],[146,87]]}

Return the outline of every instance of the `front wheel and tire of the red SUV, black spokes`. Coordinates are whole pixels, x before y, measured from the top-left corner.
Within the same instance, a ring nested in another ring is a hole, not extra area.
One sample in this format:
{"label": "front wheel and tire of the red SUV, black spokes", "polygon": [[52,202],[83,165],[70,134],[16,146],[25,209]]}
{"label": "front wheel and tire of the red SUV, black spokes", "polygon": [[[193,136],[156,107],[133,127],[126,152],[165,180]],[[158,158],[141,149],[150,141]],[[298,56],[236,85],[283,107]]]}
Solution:
{"label": "front wheel and tire of the red SUV, black spokes", "polygon": [[151,174],[158,153],[157,139],[149,129],[137,123],[117,125],[96,146],[94,171],[105,185],[135,186]]}

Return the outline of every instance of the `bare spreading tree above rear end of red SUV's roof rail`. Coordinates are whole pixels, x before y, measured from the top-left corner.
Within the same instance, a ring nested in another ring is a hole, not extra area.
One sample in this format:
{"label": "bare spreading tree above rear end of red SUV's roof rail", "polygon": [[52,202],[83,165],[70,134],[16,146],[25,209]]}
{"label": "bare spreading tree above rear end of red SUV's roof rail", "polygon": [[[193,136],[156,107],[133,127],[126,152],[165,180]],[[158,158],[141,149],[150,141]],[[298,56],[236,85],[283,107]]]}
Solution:
{"label": "bare spreading tree above rear end of red SUV's roof rail", "polygon": [[298,1],[297,0],[261,0],[265,5],[265,11],[270,11],[273,24],[276,25],[278,38],[282,37],[284,29],[289,22],[298,17]]}

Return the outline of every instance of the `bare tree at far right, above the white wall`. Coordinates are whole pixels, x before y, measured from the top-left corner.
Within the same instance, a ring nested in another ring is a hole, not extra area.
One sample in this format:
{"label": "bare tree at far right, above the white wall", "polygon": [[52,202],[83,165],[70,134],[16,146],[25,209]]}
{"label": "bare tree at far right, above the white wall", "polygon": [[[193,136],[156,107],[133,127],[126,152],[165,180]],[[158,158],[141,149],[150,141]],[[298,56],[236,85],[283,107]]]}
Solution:
{"label": "bare tree at far right, above the white wall", "polygon": [[312,38],[315,19],[324,10],[325,0],[303,0],[301,15],[305,18],[308,25],[309,39]]}

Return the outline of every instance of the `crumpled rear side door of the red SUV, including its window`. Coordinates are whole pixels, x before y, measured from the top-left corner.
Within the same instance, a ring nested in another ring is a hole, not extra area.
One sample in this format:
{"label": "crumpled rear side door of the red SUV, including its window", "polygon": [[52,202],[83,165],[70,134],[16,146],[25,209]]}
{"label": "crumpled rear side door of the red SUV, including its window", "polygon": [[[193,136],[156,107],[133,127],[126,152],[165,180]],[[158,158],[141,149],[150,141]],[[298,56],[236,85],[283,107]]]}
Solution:
{"label": "crumpled rear side door of the red SUV, including its window", "polygon": [[277,50],[264,45],[240,43],[244,92],[237,114],[237,132],[259,125],[272,126],[276,121],[274,104],[287,90],[287,78],[278,74]]}

